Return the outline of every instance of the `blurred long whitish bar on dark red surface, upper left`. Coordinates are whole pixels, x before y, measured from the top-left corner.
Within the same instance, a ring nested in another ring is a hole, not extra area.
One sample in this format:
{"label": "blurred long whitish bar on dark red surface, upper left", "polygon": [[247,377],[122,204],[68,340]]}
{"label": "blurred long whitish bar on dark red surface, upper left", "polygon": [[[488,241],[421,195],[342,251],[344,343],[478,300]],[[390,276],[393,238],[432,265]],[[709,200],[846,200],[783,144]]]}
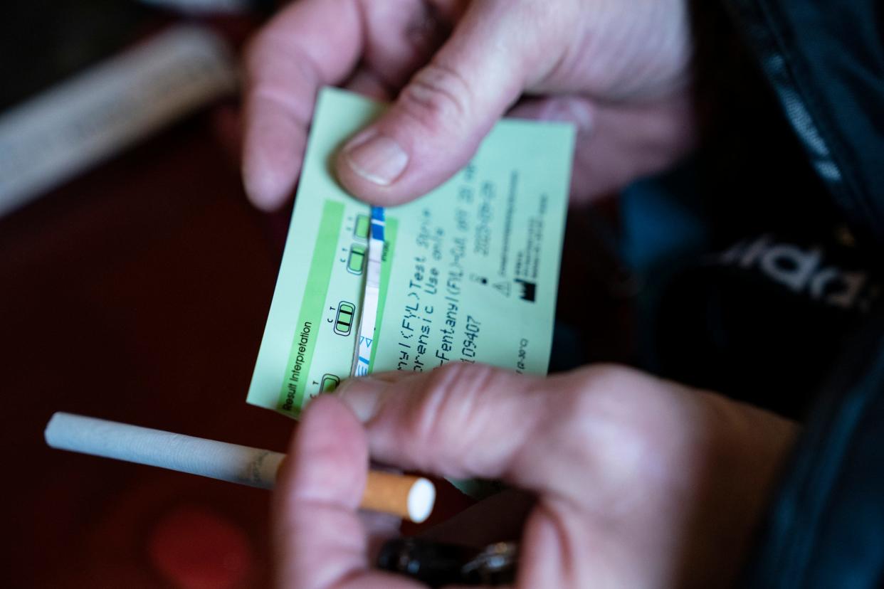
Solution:
{"label": "blurred long whitish bar on dark red surface, upper left", "polygon": [[0,115],[0,215],[232,93],[225,42],[176,26]]}

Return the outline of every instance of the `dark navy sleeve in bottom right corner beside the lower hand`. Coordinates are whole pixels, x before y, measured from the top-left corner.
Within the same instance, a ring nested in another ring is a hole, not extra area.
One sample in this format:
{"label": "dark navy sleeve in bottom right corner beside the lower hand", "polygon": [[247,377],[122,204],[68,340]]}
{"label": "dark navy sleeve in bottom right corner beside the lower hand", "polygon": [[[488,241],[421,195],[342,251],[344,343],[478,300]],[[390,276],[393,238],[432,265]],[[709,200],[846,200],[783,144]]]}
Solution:
{"label": "dark navy sleeve in bottom right corner beside the lower hand", "polygon": [[741,586],[884,586],[884,321],[857,336],[805,424]]}

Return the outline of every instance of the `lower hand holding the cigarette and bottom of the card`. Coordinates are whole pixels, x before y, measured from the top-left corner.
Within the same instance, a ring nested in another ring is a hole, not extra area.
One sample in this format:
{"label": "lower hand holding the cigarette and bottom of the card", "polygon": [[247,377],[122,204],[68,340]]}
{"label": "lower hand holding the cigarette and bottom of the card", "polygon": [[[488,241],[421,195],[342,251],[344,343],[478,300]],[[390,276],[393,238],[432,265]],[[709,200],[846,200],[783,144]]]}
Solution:
{"label": "lower hand holding the cigarette and bottom of the card", "polygon": [[370,569],[378,527],[357,512],[369,457],[537,495],[519,587],[728,585],[795,433],[618,366],[543,379],[450,364],[347,381],[309,405],[280,475],[278,585],[420,586]]}

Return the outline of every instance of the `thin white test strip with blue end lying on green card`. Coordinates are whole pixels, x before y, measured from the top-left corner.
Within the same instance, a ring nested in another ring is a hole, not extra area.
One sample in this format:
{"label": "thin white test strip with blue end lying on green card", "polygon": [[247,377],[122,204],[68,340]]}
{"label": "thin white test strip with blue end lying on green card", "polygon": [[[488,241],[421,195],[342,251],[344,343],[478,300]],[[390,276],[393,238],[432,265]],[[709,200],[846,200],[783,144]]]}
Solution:
{"label": "thin white test strip with blue end lying on green card", "polygon": [[362,315],[359,320],[353,376],[369,374],[371,364],[371,345],[375,341],[377,324],[377,298],[380,295],[381,257],[384,254],[385,213],[383,207],[371,208],[371,227],[369,231],[369,264],[365,272],[365,291],[362,294]]}

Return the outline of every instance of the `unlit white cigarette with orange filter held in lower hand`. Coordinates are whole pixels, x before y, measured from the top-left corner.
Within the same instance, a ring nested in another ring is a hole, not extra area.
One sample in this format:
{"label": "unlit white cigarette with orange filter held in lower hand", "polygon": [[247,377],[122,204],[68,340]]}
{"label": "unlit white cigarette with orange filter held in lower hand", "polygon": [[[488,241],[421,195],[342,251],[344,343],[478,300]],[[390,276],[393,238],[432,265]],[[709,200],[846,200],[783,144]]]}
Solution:
{"label": "unlit white cigarette with orange filter held in lower hand", "polygon": [[[271,450],[63,412],[52,416],[44,436],[52,448],[266,489],[273,488],[279,464],[286,457]],[[436,487],[430,480],[370,471],[360,507],[420,524],[430,516],[434,502]]]}

